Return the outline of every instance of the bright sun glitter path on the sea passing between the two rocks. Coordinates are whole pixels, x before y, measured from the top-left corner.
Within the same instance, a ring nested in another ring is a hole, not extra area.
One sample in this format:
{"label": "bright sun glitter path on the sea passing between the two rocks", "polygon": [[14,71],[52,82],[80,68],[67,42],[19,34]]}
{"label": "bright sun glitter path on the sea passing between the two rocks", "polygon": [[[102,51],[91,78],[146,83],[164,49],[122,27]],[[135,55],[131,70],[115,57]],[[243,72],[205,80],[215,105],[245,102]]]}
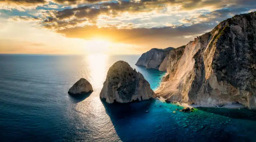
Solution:
{"label": "bright sun glitter path on the sea passing between the two rocks", "polygon": [[[120,138],[115,131],[110,117],[105,112],[99,94],[107,76],[109,56],[105,54],[91,54],[84,56],[84,66],[81,68],[82,76],[86,77],[92,84],[93,92],[90,97],[76,104],[75,111],[79,125],[76,126],[77,135],[85,138],[90,135],[96,141],[106,138],[108,141],[119,141]],[[83,129],[87,129],[83,131]],[[111,137],[110,137],[111,136]],[[86,138],[86,140],[88,140]]]}

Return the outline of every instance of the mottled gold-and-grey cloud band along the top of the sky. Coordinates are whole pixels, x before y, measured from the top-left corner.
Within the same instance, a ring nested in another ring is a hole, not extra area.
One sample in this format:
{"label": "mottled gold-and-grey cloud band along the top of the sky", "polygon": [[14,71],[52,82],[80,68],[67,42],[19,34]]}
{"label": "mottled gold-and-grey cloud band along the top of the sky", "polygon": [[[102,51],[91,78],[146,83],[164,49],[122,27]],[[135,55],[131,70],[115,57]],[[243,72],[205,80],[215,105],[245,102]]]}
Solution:
{"label": "mottled gold-and-grey cloud band along the top of the sky", "polygon": [[[64,0],[61,0],[64,1]],[[75,0],[73,0],[75,1]],[[247,0],[248,3],[253,0]],[[51,16],[48,16],[48,20],[45,20],[46,23],[44,25],[50,24],[51,27],[55,30],[58,30],[59,28],[63,29],[65,27],[62,27],[63,22],[68,22],[68,19],[74,19],[74,18],[86,18],[90,23],[95,23],[97,20],[98,15],[104,14],[108,15],[110,17],[118,16],[124,12],[129,13],[141,13],[141,12],[148,12],[155,9],[164,9],[166,7],[166,4],[171,5],[180,5],[182,10],[191,10],[191,9],[197,9],[197,8],[204,8],[204,7],[215,7],[216,9],[220,9],[219,11],[214,11],[210,13],[210,16],[218,17],[218,15],[222,15],[222,13],[230,13],[234,11],[242,11],[246,8],[236,8],[236,10],[228,9],[227,5],[236,4],[238,6],[245,5],[246,3],[241,2],[240,0],[141,0],[141,1],[127,1],[127,0],[120,0],[116,2],[105,2],[105,3],[97,3],[93,5],[85,5],[80,6],[77,8],[71,8],[71,9],[65,9],[62,11],[55,11],[52,13]],[[235,5],[235,6],[236,6]],[[248,5],[247,5],[248,6]],[[227,9],[222,9],[227,8]],[[236,13],[237,14],[237,13]],[[210,20],[209,15],[202,15],[201,18],[205,17],[205,20]],[[222,16],[226,17],[226,16]],[[200,18],[200,17],[199,17]],[[54,23],[51,23],[50,21],[54,21]],[[191,23],[197,23],[196,19],[184,19],[184,21],[191,22]],[[61,25],[59,25],[61,23]],[[49,27],[49,26],[47,26]]]}

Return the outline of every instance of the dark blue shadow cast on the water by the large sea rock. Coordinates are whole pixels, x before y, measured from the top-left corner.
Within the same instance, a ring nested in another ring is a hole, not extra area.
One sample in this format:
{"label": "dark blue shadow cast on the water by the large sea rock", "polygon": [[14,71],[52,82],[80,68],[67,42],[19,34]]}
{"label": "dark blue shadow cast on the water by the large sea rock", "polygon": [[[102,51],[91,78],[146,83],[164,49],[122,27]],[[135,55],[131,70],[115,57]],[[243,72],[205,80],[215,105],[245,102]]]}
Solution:
{"label": "dark blue shadow cast on the water by the large sea rock", "polygon": [[[143,137],[143,126],[150,115],[150,108],[154,107],[154,99],[144,101],[133,101],[130,103],[108,104],[101,99],[105,111],[115,128],[118,137],[123,142],[131,140],[141,141]],[[138,137],[138,134],[141,134]],[[147,139],[147,137],[145,137]]]}

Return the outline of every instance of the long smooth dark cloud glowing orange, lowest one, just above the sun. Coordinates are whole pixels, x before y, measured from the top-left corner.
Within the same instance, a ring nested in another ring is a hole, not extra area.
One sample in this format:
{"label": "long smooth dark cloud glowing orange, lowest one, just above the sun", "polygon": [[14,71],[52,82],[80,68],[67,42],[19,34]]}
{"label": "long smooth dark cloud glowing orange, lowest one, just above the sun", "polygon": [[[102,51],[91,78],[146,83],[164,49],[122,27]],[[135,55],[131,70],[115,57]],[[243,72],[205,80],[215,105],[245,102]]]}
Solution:
{"label": "long smooth dark cloud glowing orange, lowest one, just above the sun", "polygon": [[195,24],[191,26],[179,27],[162,27],[162,28],[132,28],[118,29],[97,28],[97,26],[84,26],[76,28],[67,28],[58,30],[58,33],[66,35],[68,38],[91,39],[94,37],[108,39],[114,42],[130,43],[130,44],[152,44],[161,43],[173,38],[196,35],[205,33],[206,30],[212,29],[215,25],[205,23]]}

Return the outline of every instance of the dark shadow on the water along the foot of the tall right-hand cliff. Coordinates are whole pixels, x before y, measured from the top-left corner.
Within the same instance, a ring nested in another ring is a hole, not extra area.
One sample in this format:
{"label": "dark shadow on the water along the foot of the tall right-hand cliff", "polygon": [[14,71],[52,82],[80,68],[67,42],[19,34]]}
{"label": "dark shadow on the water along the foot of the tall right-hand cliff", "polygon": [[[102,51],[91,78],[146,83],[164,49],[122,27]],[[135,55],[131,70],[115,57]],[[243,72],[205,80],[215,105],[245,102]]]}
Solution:
{"label": "dark shadow on the water along the foot of the tall right-hand cliff", "polygon": [[242,109],[228,109],[228,108],[217,108],[217,107],[197,107],[197,109],[222,115],[225,117],[230,117],[234,119],[246,119],[246,120],[253,120],[256,121],[256,112],[248,110],[246,108]]}

